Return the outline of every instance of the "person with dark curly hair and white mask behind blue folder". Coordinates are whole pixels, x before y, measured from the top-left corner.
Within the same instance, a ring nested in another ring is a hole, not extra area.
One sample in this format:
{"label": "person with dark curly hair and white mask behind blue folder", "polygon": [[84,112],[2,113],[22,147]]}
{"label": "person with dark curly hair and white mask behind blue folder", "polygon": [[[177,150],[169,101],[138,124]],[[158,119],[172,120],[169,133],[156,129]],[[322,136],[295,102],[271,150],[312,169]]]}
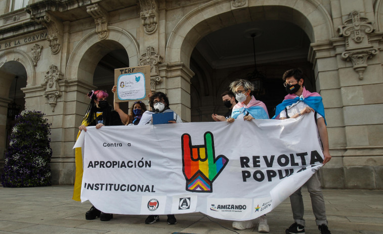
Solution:
{"label": "person with dark curly hair and white mask behind blue folder", "polygon": [[181,118],[169,108],[169,100],[163,92],[155,92],[149,97],[149,107],[151,107],[152,111],[146,111],[138,125],[153,124],[152,115],[165,112],[174,113],[174,120],[168,121],[169,123],[182,123]]}

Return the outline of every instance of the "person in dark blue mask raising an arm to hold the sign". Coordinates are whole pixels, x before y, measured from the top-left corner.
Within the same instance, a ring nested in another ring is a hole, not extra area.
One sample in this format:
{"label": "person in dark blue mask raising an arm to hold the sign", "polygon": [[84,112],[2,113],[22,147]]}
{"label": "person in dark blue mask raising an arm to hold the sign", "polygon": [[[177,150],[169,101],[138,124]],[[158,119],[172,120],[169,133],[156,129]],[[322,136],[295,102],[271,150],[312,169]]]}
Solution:
{"label": "person in dark blue mask raising an arm to hold the sign", "polygon": [[[115,91],[116,91],[116,86],[113,86],[112,92],[114,93]],[[125,112],[123,112],[120,109],[119,103],[117,102],[114,102],[114,110],[118,112],[122,123],[125,125],[138,125],[138,123],[141,120],[142,114],[145,111],[147,111],[145,104],[141,101],[133,103],[130,115],[127,115]]]}

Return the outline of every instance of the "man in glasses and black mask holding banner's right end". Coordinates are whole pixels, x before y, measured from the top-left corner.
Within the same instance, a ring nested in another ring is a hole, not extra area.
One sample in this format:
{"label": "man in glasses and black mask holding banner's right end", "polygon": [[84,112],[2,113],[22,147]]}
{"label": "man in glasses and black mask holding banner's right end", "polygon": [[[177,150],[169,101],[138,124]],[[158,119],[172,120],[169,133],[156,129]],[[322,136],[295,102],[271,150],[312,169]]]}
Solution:
{"label": "man in glasses and black mask holding banner's right end", "polygon": [[[300,69],[291,69],[283,74],[283,85],[286,88],[288,95],[284,98],[283,102],[276,107],[274,119],[297,118],[306,113],[314,112],[315,122],[319,132],[318,140],[322,143],[322,150],[324,155],[323,164],[331,159],[328,146],[328,134],[326,128],[326,121],[324,118],[324,107],[322,97],[317,92],[309,92],[303,86],[304,79],[303,73]],[[318,171],[311,176],[306,182],[307,190],[310,193],[311,204],[315,221],[318,226],[319,232],[322,234],[331,234],[327,227],[327,218],[325,203],[319,180]],[[286,234],[305,233],[305,219],[304,205],[301,189],[298,189],[290,196],[291,210],[294,218],[294,223],[286,229]]]}

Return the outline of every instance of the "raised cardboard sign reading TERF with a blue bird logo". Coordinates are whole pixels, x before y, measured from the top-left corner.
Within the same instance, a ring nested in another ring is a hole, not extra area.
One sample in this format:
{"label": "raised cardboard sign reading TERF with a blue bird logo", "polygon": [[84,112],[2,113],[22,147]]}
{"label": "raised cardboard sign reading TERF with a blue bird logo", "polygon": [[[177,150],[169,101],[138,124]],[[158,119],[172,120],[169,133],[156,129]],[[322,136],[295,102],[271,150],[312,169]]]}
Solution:
{"label": "raised cardboard sign reading TERF with a blue bird logo", "polygon": [[150,92],[150,65],[114,69],[114,101],[129,102],[148,99]]}

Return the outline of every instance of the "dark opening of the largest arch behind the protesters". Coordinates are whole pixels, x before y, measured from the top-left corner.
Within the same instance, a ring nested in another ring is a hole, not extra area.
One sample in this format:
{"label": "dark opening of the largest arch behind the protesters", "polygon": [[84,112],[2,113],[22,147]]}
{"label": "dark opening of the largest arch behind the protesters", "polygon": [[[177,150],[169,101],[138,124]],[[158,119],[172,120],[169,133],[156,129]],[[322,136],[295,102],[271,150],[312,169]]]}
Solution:
{"label": "dark opening of the largest arch behind the protesters", "polygon": [[[255,35],[254,43],[251,35]],[[226,113],[221,93],[235,79],[252,80],[255,69],[265,77],[260,92],[254,96],[266,104],[270,117],[286,95],[281,79],[284,71],[301,68],[306,75],[306,88],[316,91],[313,65],[307,61],[309,48],[306,33],[281,20],[236,24],[204,36],[190,58],[190,68],[195,73],[190,93],[192,121],[212,121],[212,113]]]}

